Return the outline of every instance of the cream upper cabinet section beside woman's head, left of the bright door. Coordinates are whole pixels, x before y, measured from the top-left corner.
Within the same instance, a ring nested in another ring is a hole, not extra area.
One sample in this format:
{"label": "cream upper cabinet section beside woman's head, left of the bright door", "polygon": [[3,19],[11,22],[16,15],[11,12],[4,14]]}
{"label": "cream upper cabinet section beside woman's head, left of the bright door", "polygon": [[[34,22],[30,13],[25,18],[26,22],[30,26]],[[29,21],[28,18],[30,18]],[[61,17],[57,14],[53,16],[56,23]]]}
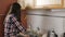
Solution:
{"label": "cream upper cabinet section beside woman's head, left of the bright door", "polygon": [[22,9],[26,7],[34,8],[34,0],[17,0],[17,2],[21,4]]}

